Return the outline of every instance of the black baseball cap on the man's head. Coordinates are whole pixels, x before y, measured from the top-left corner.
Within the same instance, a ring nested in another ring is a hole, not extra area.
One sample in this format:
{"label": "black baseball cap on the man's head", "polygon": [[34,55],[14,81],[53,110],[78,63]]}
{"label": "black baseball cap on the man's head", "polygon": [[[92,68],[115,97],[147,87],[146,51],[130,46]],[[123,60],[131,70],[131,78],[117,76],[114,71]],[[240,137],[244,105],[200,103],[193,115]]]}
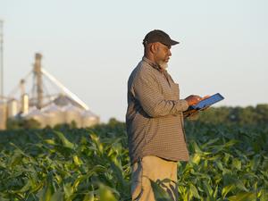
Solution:
{"label": "black baseball cap on the man's head", "polygon": [[149,44],[149,43],[155,43],[160,42],[165,46],[174,46],[176,44],[179,44],[178,41],[172,40],[170,36],[163,32],[163,30],[155,29],[151,30],[149,33],[147,33],[146,37],[143,39],[143,45]]}

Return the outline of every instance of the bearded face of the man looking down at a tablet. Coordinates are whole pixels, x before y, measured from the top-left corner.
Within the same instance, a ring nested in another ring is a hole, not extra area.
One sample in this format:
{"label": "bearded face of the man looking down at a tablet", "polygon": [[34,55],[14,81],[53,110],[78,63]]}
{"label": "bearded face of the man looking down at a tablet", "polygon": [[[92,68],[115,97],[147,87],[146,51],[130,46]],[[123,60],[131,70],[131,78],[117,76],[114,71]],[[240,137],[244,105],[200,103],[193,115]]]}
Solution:
{"label": "bearded face of the man looking down at a tablet", "polygon": [[159,42],[156,43],[155,62],[158,65],[165,69],[171,55],[171,46],[165,46]]}

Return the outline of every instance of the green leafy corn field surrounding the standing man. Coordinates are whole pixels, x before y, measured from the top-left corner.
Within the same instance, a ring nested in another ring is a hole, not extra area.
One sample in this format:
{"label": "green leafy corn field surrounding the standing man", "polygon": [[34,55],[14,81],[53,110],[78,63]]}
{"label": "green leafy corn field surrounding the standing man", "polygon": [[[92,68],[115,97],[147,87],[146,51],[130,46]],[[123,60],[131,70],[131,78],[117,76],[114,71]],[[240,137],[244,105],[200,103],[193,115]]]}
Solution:
{"label": "green leafy corn field surrounding the standing man", "polygon": [[[180,201],[268,200],[268,126],[188,123],[186,132]],[[131,200],[130,171],[121,122],[0,132],[0,201]],[[152,186],[157,200],[170,200]]]}

